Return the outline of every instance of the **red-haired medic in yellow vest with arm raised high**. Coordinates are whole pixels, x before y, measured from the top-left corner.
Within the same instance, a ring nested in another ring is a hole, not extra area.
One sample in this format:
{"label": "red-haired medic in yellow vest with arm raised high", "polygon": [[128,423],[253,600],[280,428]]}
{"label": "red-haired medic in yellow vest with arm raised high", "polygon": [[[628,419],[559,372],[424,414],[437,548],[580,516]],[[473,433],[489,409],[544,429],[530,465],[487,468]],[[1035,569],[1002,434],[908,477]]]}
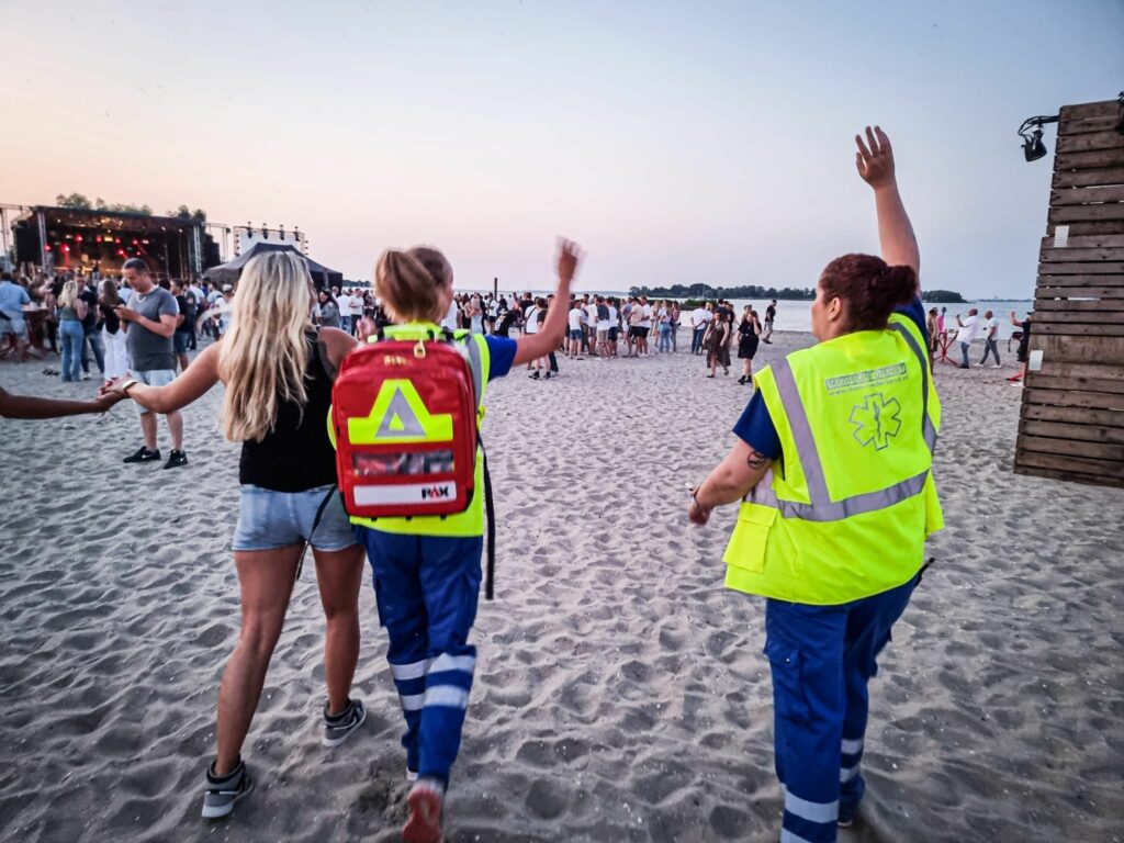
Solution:
{"label": "red-haired medic in yellow vest with arm raised high", "polygon": [[688,515],[742,501],[726,586],[765,600],[785,839],[830,843],[862,797],[867,683],[942,526],[919,256],[879,128],[855,137],[882,256],[827,264],[810,348],[755,378],[737,443]]}

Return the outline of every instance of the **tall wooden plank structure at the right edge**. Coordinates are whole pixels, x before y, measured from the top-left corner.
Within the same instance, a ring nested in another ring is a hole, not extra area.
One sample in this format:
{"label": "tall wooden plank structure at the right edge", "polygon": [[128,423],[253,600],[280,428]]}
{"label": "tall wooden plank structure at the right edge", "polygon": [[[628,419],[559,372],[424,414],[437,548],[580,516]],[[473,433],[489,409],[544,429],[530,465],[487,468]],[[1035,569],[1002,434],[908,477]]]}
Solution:
{"label": "tall wooden plank structure at the right edge", "polygon": [[1061,109],[1018,474],[1124,487],[1122,110],[1117,100]]}

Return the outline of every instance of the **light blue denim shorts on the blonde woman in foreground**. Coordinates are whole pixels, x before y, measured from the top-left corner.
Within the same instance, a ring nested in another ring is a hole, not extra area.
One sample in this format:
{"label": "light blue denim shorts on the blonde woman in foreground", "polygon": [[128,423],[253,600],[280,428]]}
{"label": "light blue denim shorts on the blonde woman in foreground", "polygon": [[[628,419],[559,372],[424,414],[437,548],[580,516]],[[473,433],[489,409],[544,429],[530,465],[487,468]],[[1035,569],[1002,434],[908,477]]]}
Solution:
{"label": "light blue denim shorts on the blonde woman in foreground", "polygon": [[[312,533],[316,511],[324,504],[320,523]],[[334,486],[321,486],[300,492],[279,492],[248,483],[242,487],[238,525],[234,528],[235,551],[272,551],[303,544],[312,533],[310,544],[318,551],[342,551],[356,543],[343,501]]]}

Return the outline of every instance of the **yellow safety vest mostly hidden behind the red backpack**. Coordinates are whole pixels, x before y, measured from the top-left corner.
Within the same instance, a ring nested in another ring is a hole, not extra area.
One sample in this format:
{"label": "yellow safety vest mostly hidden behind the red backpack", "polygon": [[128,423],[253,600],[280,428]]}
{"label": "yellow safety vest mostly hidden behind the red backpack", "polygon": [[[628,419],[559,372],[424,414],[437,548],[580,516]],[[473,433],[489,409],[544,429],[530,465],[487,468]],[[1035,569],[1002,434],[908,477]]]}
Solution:
{"label": "yellow safety vest mostly hidden behind the red backpack", "polygon": [[[441,336],[442,328],[433,323],[408,323],[406,325],[383,328],[388,339],[432,339]],[[477,425],[484,417],[484,391],[488,388],[488,374],[491,371],[491,354],[488,342],[481,334],[469,334],[466,330],[453,332],[457,343],[465,346],[469,369],[472,371],[473,384],[477,388]],[[373,342],[373,338],[372,338]],[[328,430],[332,444],[335,445],[335,432],[332,430],[332,411],[328,411]],[[352,516],[352,524],[359,524],[382,533],[397,533],[414,536],[451,536],[473,537],[484,534],[484,468],[483,451],[477,446],[477,462],[472,483],[472,500],[468,509],[455,515],[417,515],[410,518],[361,518]]]}

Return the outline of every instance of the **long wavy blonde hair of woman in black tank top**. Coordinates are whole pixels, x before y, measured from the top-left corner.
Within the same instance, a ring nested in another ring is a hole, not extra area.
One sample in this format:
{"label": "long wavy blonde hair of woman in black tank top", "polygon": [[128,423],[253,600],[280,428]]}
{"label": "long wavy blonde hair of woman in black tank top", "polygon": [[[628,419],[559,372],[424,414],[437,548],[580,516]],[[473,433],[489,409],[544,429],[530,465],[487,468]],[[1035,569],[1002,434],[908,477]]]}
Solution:
{"label": "long wavy blonde hair of woman in black tank top", "polygon": [[308,401],[312,279],[292,252],[252,257],[242,270],[230,328],[223,337],[218,372],[226,383],[223,433],[232,442],[261,442],[277,423],[278,408]]}

